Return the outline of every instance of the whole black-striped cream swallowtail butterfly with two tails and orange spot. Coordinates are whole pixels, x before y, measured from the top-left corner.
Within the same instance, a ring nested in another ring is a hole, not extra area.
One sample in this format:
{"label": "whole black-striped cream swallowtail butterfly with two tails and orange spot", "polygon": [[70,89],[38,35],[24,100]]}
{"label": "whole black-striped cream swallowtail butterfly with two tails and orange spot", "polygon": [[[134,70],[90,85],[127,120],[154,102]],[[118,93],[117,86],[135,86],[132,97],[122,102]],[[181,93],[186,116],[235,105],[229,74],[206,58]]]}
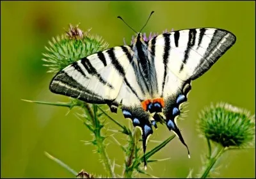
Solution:
{"label": "whole black-striped cream swallowtail butterfly with two tails and orange spot", "polygon": [[[235,42],[229,31],[207,27],[163,33],[147,42],[137,33],[132,45],[97,52],[67,66],[53,77],[50,89],[84,102],[108,104],[112,113],[122,104],[124,117],[142,131],[144,153],[157,122],[165,123],[188,149],[176,122],[180,105],[188,100],[191,81]],[[145,157],[144,162],[146,167]]]}

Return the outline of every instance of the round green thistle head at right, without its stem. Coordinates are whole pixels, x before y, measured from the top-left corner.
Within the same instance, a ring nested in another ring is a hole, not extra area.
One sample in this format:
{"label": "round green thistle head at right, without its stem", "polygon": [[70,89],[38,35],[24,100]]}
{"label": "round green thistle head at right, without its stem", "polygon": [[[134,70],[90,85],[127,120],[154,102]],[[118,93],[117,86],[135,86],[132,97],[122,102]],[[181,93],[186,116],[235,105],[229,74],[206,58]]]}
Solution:
{"label": "round green thistle head at right, without its stem", "polygon": [[211,105],[198,120],[200,132],[224,147],[248,147],[255,139],[255,116],[230,104]]}

